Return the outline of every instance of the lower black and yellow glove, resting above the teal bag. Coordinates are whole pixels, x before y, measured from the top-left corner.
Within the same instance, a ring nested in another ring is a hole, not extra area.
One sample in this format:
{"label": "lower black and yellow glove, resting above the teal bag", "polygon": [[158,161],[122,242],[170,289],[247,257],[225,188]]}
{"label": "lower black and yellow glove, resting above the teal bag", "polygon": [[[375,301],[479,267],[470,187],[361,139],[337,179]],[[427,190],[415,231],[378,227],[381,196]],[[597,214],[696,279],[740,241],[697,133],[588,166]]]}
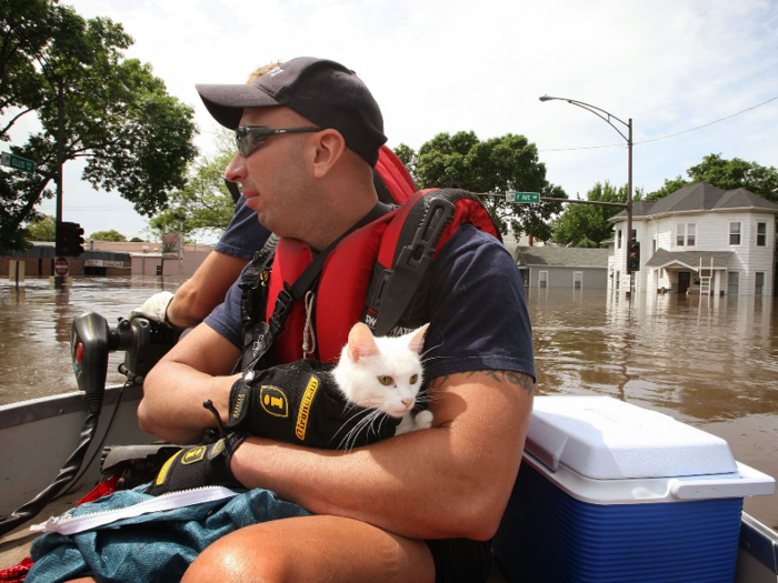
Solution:
{"label": "lower black and yellow glove, resting above the teal bag", "polygon": [[197,445],[174,453],[164,462],[146,493],[159,496],[207,485],[243,487],[230,471],[230,460],[246,438],[248,433],[245,431],[233,431],[210,445]]}

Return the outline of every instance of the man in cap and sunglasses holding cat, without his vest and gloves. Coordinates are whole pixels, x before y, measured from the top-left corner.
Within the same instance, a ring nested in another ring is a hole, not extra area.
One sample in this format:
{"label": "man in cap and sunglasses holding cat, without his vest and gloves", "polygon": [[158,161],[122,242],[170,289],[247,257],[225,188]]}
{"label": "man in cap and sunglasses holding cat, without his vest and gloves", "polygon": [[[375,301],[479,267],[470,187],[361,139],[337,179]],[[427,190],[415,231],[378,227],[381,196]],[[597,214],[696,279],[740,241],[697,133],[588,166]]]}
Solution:
{"label": "man in cap and sunglasses holding cat, without his vest and gloves", "polygon": [[[250,86],[198,90],[217,121],[257,138],[226,177],[242,184],[247,204],[282,241],[322,252],[376,207],[371,165],[386,137],[377,103],[352,71],[303,58]],[[260,127],[285,131],[268,138]],[[499,525],[531,412],[523,290],[510,254],[472,225],[451,237],[428,279],[432,429],[349,453],[247,439],[231,458],[235,479],[316,515],[227,535],[183,581],[486,579],[488,545],[475,541],[488,541]],[[148,375],[143,429],[172,442],[197,441],[215,425],[200,406],[207,399],[227,421],[230,391],[241,379],[229,373],[241,350],[233,287]]]}

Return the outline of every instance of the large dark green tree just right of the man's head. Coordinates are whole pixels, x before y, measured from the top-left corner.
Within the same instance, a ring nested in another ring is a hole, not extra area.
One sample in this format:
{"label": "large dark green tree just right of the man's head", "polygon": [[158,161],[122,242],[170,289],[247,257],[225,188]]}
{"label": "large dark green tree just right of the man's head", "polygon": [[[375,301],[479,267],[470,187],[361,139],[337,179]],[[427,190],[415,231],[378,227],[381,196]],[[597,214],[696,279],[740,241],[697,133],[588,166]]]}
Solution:
{"label": "large dark green tree just right of the man's head", "polygon": [[[417,153],[406,144],[396,150],[419,188],[459,188],[476,193],[508,191],[539,192],[541,197],[567,199],[560,187],[546,180],[546,165],[538,161],[538,149],[523,135],[507,133],[480,141],[475,132],[443,132],[419,148]],[[481,197],[483,205],[502,233],[512,229],[538,240],[551,238],[549,220],[561,212],[560,203],[513,204],[505,197]]]}

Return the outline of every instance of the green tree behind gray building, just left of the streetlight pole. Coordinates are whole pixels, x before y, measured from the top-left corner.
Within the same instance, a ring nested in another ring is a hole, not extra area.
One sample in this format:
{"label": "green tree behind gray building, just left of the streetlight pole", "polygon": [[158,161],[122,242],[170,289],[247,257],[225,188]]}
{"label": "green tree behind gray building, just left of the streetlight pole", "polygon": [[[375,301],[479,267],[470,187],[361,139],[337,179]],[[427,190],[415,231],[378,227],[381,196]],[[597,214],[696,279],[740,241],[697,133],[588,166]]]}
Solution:
{"label": "green tree behind gray building, just left of the streetlight pole", "polygon": [[[587,200],[600,202],[627,202],[627,185],[616,189],[608,182],[597,182],[589,192]],[[638,189],[634,200],[642,199]],[[553,222],[553,242],[570,247],[605,247],[602,243],[614,234],[614,224],[608,221],[614,214],[621,212],[619,207],[600,204],[566,205],[565,212]]]}

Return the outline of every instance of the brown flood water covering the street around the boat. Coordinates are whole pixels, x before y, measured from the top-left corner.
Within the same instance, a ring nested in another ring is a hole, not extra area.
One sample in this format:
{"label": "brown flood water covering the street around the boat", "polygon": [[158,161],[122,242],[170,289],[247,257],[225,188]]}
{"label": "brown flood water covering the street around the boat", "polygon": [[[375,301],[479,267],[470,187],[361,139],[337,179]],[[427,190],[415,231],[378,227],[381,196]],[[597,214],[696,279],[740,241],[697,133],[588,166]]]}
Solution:
{"label": "brown flood water covering the street around the boat", "polygon": [[[0,281],[0,405],[77,389],[69,333],[94,311],[113,324],[178,279]],[[537,394],[600,394],[671,415],[729,442],[735,458],[778,478],[776,298],[529,290]],[[109,384],[123,355],[109,359]],[[778,530],[778,495],[746,499]]]}

